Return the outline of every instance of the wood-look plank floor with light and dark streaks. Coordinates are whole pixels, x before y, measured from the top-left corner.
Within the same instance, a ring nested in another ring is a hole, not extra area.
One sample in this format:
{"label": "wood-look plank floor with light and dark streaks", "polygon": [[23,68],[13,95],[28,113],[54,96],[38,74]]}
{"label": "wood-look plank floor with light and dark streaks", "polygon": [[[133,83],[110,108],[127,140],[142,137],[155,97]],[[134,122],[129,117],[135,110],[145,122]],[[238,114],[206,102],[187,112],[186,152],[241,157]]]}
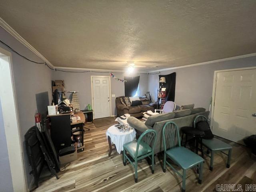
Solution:
{"label": "wood-look plank floor with light and dark streaks", "polygon": [[[104,121],[104,119],[102,119]],[[106,121],[106,122],[109,122]],[[111,123],[112,124],[112,123]],[[78,154],[64,172],[59,172],[60,179],[44,178],[36,192],[180,192],[182,179],[170,167],[162,171],[161,156],[156,157],[155,173],[151,173],[146,160],[138,166],[138,183],[134,182],[134,168],[122,163],[122,156],[116,151],[108,157],[106,130],[110,125],[96,128],[93,123],[86,124],[85,150]],[[206,157],[202,184],[198,184],[195,170],[188,170],[186,178],[187,192],[216,191],[216,184],[238,184],[246,179],[255,184],[256,161],[250,157],[244,146],[222,139],[233,146],[230,168],[226,168],[226,155],[214,156],[214,169],[209,170],[210,158]],[[177,167],[177,166],[174,166]],[[180,170],[180,169],[179,169]],[[182,170],[180,170],[181,172]]]}

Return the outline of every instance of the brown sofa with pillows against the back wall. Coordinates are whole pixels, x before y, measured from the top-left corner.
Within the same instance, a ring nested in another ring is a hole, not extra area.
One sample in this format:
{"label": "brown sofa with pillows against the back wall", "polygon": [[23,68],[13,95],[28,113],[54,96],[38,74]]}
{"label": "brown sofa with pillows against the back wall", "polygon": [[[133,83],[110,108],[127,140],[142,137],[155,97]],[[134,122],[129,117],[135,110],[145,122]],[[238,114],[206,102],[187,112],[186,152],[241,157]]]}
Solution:
{"label": "brown sofa with pillows against the back wall", "polygon": [[121,103],[120,98],[123,98],[124,96],[117,97],[116,98],[116,110],[117,110],[117,116],[122,116],[126,113],[130,114],[133,117],[141,117],[142,114],[148,110],[151,110],[154,112],[154,110],[157,107],[157,104],[155,103],[150,103],[148,100],[145,100],[144,98],[140,98],[142,100],[143,105],[139,106],[125,106]]}

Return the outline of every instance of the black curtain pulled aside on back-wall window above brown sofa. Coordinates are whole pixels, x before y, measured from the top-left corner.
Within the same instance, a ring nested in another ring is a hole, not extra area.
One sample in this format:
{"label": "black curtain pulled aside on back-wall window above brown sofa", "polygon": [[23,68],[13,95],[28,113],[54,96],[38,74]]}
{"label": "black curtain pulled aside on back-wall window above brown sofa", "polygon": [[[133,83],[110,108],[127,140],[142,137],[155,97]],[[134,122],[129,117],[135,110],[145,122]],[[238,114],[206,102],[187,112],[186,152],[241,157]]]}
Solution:
{"label": "black curtain pulled aside on back-wall window above brown sofa", "polygon": [[127,82],[124,82],[124,96],[126,97],[134,96],[138,89],[140,76],[124,77],[124,80],[127,80]]}

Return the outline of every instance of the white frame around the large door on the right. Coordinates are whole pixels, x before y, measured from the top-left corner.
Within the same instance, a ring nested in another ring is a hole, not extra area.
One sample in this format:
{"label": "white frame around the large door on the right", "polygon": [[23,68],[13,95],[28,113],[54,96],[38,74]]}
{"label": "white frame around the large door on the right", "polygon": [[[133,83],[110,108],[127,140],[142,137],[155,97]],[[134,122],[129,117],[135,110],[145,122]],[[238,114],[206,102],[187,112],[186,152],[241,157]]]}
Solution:
{"label": "white frame around the large door on the right", "polygon": [[256,69],[256,66],[254,67],[244,67],[244,68],[235,68],[235,69],[224,69],[224,70],[217,70],[214,71],[214,77],[213,77],[213,86],[212,86],[212,109],[211,109],[211,122],[210,127],[213,130],[213,124],[214,121],[214,104],[215,104],[215,95],[216,95],[216,86],[217,86],[217,74],[218,72],[227,72],[227,71],[241,71],[241,70],[250,70],[250,69]]}

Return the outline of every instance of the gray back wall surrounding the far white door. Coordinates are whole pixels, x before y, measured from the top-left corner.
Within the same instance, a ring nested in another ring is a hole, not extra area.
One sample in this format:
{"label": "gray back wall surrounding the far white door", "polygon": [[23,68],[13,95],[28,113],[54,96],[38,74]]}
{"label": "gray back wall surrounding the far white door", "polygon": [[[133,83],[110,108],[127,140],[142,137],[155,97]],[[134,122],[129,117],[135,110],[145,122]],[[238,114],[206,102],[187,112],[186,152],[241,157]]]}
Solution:
{"label": "gray back wall surrounding the far white door", "polygon": [[[124,79],[124,74],[113,74],[120,79]],[[139,74],[139,95],[144,95],[148,88],[148,74]],[[85,109],[88,104],[92,105],[92,93],[91,93],[91,76],[109,76],[109,73],[66,73],[60,71],[52,72],[52,80],[64,80],[66,97],[70,98],[68,91],[79,91],[77,93],[80,109]],[[116,97],[124,96],[124,83],[110,77],[111,81],[111,94],[115,94]],[[112,115],[116,115],[115,97],[112,97]]]}

